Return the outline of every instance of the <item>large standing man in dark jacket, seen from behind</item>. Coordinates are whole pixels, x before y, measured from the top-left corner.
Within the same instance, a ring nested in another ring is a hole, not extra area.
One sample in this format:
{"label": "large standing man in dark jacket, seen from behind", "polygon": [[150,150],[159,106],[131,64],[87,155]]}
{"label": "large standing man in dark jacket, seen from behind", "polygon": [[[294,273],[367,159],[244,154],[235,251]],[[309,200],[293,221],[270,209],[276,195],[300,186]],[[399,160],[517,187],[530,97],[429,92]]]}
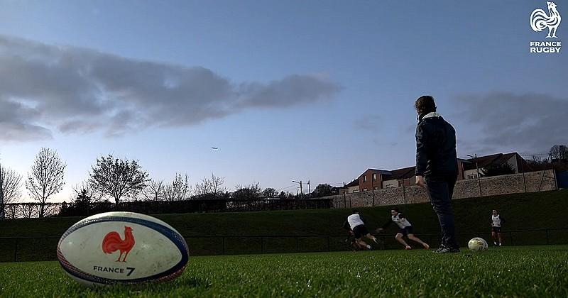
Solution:
{"label": "large standing man in dark jacket, seen from behind", "polygon": [[442,229],[442,245],[435,253],[459,253],[450,204],[458,174],[456,131],[436,113],[432,96],[420,96],[415,109],[416,184],[426,189]]}

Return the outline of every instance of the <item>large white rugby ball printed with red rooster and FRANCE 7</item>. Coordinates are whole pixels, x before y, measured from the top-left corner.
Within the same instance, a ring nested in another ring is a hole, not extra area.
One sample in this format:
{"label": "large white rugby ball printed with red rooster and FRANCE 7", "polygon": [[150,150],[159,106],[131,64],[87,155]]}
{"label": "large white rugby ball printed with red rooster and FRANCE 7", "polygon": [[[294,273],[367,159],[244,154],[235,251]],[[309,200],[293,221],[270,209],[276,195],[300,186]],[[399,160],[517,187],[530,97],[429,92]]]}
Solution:
{"label": "large white rugby ball printed with red rooster and FRANCE 7", "polygon": [[61,236],[57,253],[67,275],[87,286],[173,280],[189,260],[178,231],[131,212],[107,212],[75,223]]}

